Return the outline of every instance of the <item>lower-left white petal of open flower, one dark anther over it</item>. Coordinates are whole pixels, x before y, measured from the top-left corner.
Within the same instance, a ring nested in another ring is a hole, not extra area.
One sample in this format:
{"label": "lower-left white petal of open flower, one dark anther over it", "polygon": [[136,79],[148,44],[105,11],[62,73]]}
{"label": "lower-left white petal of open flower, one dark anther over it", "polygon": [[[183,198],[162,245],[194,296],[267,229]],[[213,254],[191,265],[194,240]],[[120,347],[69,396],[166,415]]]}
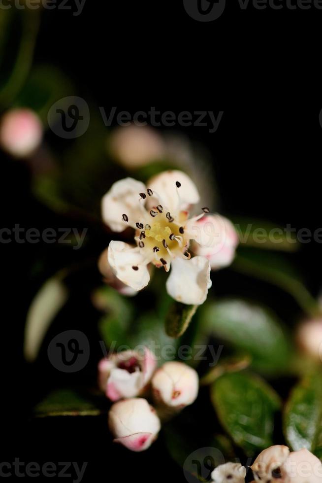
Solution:
{"label": "lower-left white petal of open flower, one dark anther over it", "polygon": [[[149,283],[150,274],[144,256],[128,243],[110,242],[108,263],[118,279],[133,290],[142,290]],[[138,270],[132,267],[138,267]]]}

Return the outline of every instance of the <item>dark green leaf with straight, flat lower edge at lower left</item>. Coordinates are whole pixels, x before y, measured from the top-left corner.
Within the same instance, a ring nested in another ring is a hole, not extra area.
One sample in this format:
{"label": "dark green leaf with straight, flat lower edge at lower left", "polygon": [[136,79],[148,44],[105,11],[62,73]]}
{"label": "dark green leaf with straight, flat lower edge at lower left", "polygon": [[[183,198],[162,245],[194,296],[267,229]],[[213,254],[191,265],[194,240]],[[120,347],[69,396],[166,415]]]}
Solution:
{"label": "dark green leaf with straight, flat lower edge at lower left", "polygon": [[35,417],[97,416],[106,412],[106,399],[84,397],[76,391],[61,389],[51,392],[34,408]]}

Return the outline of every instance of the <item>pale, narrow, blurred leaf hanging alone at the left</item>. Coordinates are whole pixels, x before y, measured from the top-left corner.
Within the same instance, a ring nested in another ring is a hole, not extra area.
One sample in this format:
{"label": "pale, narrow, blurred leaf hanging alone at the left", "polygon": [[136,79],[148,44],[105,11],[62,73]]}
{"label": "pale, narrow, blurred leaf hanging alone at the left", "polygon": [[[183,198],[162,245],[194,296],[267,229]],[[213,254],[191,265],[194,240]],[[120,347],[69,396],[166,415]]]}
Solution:
{"label": "pale, narrow, blurred leaf hanging alone at the left", "polygon": [[32,362],[40,349],[46,332],[64,306],[68,292],[62,282],[63,271],[48,279],[35,295],[27,313],[24,354]]}

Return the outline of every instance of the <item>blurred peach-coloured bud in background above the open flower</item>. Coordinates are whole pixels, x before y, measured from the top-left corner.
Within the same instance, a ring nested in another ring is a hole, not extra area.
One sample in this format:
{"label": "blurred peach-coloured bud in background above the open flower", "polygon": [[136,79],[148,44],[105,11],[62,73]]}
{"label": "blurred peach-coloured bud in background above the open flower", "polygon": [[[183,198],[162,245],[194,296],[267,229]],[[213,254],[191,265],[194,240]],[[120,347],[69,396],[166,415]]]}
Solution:
{"label": "blurred peach-coloured bud in background above the open flower", "polygon": [[163,141],[148,126],[118,127],[111,135],[110,150],[115,158],[129,169],[139,168],[164,155]]}

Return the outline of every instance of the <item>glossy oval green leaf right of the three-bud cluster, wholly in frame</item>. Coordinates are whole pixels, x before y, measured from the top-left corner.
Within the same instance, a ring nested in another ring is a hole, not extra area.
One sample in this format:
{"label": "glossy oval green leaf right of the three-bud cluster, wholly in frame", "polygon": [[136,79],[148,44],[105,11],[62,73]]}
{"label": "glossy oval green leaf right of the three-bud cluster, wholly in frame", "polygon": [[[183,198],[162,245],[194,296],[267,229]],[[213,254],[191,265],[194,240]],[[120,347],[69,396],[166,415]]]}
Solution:
{"label": "glossy oval green leaf right of the three-bud cluster, wholly in frame", "polygon": [[247,454],[272,445],[280,401],[266,382],[244,372],[224,374],[212,384],[211,400],[222,425]]}

